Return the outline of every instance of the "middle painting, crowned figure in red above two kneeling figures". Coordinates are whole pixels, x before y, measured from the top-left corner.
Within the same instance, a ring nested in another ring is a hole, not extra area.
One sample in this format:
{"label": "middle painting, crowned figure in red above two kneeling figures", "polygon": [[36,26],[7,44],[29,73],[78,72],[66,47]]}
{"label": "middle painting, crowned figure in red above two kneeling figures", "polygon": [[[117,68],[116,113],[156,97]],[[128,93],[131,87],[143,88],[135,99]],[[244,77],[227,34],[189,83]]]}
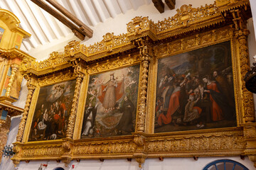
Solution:
{"label": "middle painting, crowned figure in red above two kneeling figures", "polygon": [[139,65],[90,76],[81,138],[134,132]]}

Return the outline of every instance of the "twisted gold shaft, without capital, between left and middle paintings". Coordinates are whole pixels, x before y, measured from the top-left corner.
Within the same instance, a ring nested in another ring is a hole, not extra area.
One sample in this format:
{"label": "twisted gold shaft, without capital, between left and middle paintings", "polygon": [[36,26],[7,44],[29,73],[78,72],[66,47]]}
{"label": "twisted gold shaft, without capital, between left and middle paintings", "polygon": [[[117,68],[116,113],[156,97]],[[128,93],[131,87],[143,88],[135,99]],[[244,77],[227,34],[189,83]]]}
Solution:
{"label": "twisted gold shaft, without capital, between left and middle paintings", "polygon": [[66,135],[66,137],[69,139],[73,138],[74,127],[75,127],[75,117],[76,117],[76,111],[78,108],[78,98],[79,98],[79,92],[80,92],[80,87],[81,87],[83,77],[84,77],[84,74],[80,74],[80,73],[77,74],[77,79],[75,83],[75,93],[73,97],[70,118],[68,120],[68,130]]}

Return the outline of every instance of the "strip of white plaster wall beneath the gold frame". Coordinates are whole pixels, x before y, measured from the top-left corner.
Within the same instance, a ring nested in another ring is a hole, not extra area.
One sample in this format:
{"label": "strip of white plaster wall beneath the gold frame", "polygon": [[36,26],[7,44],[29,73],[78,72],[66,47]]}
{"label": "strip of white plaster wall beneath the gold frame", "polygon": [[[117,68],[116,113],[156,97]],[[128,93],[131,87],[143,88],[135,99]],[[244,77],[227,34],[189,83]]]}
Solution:
{"label": "strip of white plaster wall beneath the gold frame", "polygon": [[[162,162],[159,159],[146,159],[142,170],[202,170],[207,164],[218,159],[231,159],[243,164],[250,170],[255,169],[247,157],[244,160],[240,157],[199,157],[197,161],[193,158],[164,158]],[[56,167],[62,167],[65,170],[140,170],[134,159],[132,159],[132,162],[128,162],[126,159],[105,159],[104,162],[100,162],[100,160],[81,160],[80,162],[71,162],[68,167],[65,167],[63,163],[53,161],[21,162],[18,170],[37,170],[41,164],[48,164],[47,167],[43,166],[43,170],[53,170]]]}

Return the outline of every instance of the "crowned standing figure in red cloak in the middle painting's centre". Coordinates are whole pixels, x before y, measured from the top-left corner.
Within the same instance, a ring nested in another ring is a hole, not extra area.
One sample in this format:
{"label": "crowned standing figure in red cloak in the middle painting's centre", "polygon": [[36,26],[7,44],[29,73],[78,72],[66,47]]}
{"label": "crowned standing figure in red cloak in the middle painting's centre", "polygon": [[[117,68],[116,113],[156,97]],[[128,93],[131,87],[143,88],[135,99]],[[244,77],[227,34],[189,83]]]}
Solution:
{"label": "crowned standing figure in red cloak in the middle painting's centre", "polygon": [[123,94],[124,79],[117,81],[114,79],[114,74],[110,74],[110,80],[100,86],[98,98],[105,111],[112,111]]}

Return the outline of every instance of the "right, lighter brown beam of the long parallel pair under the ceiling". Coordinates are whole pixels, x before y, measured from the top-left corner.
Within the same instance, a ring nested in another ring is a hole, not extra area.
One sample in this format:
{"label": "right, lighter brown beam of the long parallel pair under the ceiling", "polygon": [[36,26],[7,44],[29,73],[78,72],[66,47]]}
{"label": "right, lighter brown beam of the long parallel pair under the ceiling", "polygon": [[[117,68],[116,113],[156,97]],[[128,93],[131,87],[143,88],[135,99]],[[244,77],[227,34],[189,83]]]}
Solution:
{"label": "right, lighter brown beam of the long parallel pair under the ceiling", "polygon": [[55,0],[46,0],[48,1],[49,4],[51,4],[52,6],[54,6],[56,9],[58,9],[58,11],[60,11],[61,13],[63,13],[64,16],[66,16],[67,18],[69,18],[71,21],[73,21],[82,31],[82,33],[85,33],[85,35],[89,38],[92,38],[92,33],[93,30],[91,28],[89,28],[88,26],[85,25],[85,23],[82,23],[82,21],[80,21],[78,18],[76,18],[75,16],[73,16],[72,13],[70,13],[70,11],[68,11],[66,8],[64,8],[63,6],[61,6],[60,4],[58,4],[57,1]]}

